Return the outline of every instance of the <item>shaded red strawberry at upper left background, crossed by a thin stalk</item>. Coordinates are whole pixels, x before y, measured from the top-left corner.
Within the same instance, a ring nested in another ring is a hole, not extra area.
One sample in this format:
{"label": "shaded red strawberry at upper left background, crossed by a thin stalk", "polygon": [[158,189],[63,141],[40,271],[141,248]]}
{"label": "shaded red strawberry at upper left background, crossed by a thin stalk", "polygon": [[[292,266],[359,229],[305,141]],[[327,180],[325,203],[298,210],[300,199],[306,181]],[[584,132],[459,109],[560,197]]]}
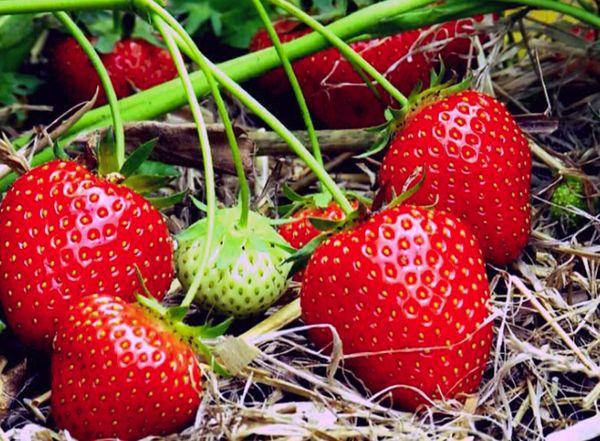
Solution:
{"label": "shaded red strawberry at upper left background, crossed by a thin stalk", "polygon": [[[113,51],[101,56],[119,98],[149,89],[177,76],[175,64],[165,49],[145,40],[117,42]],[[87,101],[99,88],[97,105],[106,104],[106,95],[96,71],[79,44],[66,38],[54,47],[51,61],[54,78],[70,103]]]}

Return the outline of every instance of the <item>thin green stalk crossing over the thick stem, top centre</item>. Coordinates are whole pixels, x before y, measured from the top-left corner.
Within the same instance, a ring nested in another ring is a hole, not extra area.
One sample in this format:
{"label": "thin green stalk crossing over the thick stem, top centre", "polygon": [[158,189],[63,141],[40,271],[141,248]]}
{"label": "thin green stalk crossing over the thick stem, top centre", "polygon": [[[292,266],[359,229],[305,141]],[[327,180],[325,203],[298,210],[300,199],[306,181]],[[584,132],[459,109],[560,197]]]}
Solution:
{"label": "thin green stalk crossing over the thick stem, top centre", "polygon": [[315,126],[313,124],[312,118],[310,117],[310,111],[308,110],[308,105],[306,104],[306,99],[304,99],[304,95],[302,93],[302,89],[300,88],[300,83],[298,82],[298,77],[294,72],[294,68],[292,67],[292,63],[285,53],[285,49],[281,44],[281,40],[279,35],[277,35],[277,31],[271,23],[271,19],[269,18],[269,14],[267,10],[263,6],[261,0],[252,0],[256,11],[260,19],[269,34],[269,38],[273,42],[273,46],[277,51],[277,55],[281,59],[281,65],[283,66],[283,70],[288,77],[290,82],[290,86],[294,92],[296,97],[296,101],[298,102],[298,107],[300,108],[300,113],[302,114],[302,118],[304,119],[304,125],[306,126],[306,131],[308,132],[308,139],[310,140],[310,144],[312,146],[313,156],[317,160],[317,162],[323,166],[323,155],[321,154],[321,148],[319,147],[319,140],[317,139],[317,133],[315,132]]}

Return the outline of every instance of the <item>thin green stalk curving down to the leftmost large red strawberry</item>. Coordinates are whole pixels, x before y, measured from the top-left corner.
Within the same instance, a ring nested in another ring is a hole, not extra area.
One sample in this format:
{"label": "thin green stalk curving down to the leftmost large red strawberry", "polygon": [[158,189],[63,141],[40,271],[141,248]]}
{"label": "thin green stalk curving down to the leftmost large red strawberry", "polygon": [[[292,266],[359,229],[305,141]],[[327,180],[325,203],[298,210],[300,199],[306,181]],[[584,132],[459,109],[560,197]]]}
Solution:
{"label": "thin green stalk curving down to the leftmost large red strawberry", "polygon": [[118,170],[113,171],[119,171],[125,163],[125,129],[123,127],[123,119],[121,118],[121,110],[119,109],[119,100],[112,85],[112,81],[110,80],[110,76],[108,75],[108,71],[106,70],[106,67],[104,67],[98,52],[96,52],[96,49],[94,49],[94,46],[92,46],[83,31],[79,28],[79,26],[77,26],[73,19],[69,17],[69,14],[61,11],[56,12],[54,15],[58,20],[60,20],[65,28],[67,28],[77,43],[79,43],[79,46],[81,46],[81,49],[83,49],[92,63],[92,66],[94,66],[94,69],[98,73],[98,77],[100,77],[100,82],[102,83],[102,87],[106,93],[108,106],[112,114],[113,126],[115,130],[114,154],[116,156]]}

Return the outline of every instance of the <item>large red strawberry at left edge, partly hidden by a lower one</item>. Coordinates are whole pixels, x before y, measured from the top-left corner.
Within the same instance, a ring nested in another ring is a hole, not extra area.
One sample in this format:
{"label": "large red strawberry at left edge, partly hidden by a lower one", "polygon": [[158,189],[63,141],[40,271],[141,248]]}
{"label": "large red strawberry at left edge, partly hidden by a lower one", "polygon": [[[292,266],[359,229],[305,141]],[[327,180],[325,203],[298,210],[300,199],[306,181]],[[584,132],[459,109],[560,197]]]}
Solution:
{"label": "large red strawberry at left edge, partly hidden by a lower one", "polygon": [[69,303],[109,293],[162,298],[173,277],[166,224],[145,199],[74,162],[19,178],[0,206],[0,303],[23,343],[49,349]]}

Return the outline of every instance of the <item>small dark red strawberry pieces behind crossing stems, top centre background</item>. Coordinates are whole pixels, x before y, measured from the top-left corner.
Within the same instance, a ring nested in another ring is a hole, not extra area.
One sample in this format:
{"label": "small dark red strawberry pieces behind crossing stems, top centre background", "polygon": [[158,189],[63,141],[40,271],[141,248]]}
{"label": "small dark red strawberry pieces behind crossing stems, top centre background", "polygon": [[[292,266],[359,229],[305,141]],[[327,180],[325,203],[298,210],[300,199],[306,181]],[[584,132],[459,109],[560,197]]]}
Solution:
{"label": "small dark red strawberry pieces behind crossing stems, top centre background", "polygon": [[[274,24],[274,27],[277,31],[277,35],[279,35],[279,39],[283,43],[295,40],[296,38],[300,38],[311,32],[310,29],[303,27],[301,23],[293,20],[280,20]],[[273,42],[271,41],[269,34],[266,29],[261,29],[252,38],[249,49],[252,52],[257,52],[271,46],[273,46]],[[301,61],[295,62],[295,67],[297,67],[299,63],[301,63]],[[271,72],[259,77],[257,82],[261,88],[268,90],[269,94],[276,97],[292,91],[287,75],[281,67],[273,69]]]}

